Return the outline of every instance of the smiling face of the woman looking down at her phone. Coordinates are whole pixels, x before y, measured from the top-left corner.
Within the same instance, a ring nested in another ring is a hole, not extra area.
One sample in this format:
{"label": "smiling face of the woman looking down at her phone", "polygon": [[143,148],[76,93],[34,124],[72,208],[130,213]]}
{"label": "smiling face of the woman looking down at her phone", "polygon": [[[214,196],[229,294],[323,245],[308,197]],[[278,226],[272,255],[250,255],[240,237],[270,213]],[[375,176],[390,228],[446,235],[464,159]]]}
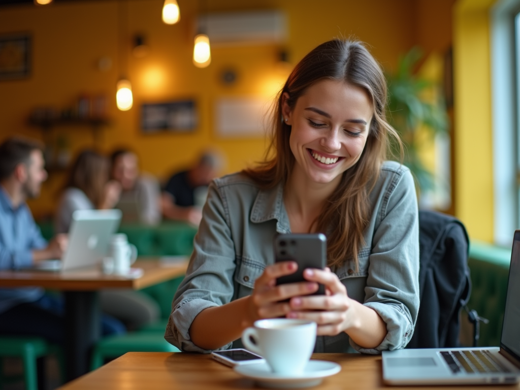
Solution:
{"label": "smiling face of the woman looking down at her phone", "polygon": [[339,183],[367,142],[373,109],[365,90],[323,79],[311,85],[292,110],[284,100],[282,112],[292,126],[289,144],[296,173],[314,183]]}

